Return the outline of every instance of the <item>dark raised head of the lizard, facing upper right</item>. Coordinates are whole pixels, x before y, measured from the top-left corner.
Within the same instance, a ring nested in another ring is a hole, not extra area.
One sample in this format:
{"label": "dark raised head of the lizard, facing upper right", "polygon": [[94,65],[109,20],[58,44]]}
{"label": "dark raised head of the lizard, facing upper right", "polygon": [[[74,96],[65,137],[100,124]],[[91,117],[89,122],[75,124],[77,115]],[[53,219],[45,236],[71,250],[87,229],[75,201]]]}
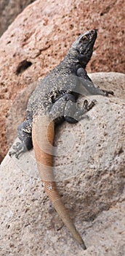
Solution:
{"label": "dark raised head of the lizard, facing upper right", "polygon": [[91,59],[96,38],[97,30],[92,29],[81,34],[70,48],[70,54],[78,59],[82,67],[86,67],[86,64]]}

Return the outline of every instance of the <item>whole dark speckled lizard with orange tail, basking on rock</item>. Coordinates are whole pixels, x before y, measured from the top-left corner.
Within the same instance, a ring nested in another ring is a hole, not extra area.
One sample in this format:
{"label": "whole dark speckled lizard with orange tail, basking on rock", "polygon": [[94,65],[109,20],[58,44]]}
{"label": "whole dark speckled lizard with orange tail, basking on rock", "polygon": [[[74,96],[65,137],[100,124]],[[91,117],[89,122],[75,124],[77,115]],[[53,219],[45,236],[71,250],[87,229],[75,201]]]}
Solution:
{"label": "whole dark speckled lizard with orange tail, basking on rock", "polygon": [[62,221],[84,249],[86,249],[84,241],[73,225],[56,189],[52,174],[52,143],[55,124],[64,120],[71,124],[76,123],[95,105],[95,100],[89,104],[85,99],[84,106],[79,108],[76,104],[78,95],[113,94],[113,91],[96,88],[86,74],[86,64],[91,59],[96,38],[95,29],[81,34],[71,46],[65,59],[41,80],[28,100],[26,119],[18,127],[18,137],[21,142],[13,146],[13,151],[9,152],[10,156],[15,154],[18,158],[22,152],[34,148],[47,195]]}

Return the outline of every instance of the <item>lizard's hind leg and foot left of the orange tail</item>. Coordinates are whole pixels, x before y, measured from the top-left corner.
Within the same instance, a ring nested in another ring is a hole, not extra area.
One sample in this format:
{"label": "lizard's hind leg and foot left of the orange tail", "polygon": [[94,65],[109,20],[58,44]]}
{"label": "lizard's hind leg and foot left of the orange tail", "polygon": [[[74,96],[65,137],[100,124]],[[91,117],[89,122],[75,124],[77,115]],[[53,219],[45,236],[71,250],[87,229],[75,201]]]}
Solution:
{"label": "lizard's hind leg and foot left of the orange tail", "polygon": [[15,154],[15,157],[18,159],[19,155],[25,151],[30,150],[33,147],[32,138],[31,138],[31,130],[32,130],[32,121],[31,119],[25,120],[17,127],[17,135],[21,142],[16,143],[12,147],[12,151],[9,151],[9,156]]}

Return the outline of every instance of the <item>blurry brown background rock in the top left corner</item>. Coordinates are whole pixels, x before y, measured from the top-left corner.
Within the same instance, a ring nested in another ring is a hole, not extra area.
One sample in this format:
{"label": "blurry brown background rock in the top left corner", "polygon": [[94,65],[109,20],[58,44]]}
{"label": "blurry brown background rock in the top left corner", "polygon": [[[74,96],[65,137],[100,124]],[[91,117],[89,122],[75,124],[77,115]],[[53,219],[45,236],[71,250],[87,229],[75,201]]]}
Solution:
{"label": "blurry brown background rock in the top left corner", "polygon": [[8,28],[17,15],[22,12],[33,0],[1,0],[0,9],[0,36]]}

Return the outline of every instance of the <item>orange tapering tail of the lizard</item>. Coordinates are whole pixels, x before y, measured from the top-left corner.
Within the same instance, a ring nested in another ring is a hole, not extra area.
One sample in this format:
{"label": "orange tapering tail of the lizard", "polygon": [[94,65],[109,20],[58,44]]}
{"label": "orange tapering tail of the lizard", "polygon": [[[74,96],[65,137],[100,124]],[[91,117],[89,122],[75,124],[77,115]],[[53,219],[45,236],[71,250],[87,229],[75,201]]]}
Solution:
{"label": "orange tapering tail of the lizard", "polygon": [[76,230],[68,210],[65,208],[60,195],[57,192],[55,179],[52,173],[52,144],[55,137],[55,124],[47,116],[37,116],[33,122],[32,140],[35,151],[36,162],[39,168],[41,180],[44,181],[44,188],[52,202],[55,210],[59,214],[62,222],[68,227],[73,238],[86,249],[83,239]]}

